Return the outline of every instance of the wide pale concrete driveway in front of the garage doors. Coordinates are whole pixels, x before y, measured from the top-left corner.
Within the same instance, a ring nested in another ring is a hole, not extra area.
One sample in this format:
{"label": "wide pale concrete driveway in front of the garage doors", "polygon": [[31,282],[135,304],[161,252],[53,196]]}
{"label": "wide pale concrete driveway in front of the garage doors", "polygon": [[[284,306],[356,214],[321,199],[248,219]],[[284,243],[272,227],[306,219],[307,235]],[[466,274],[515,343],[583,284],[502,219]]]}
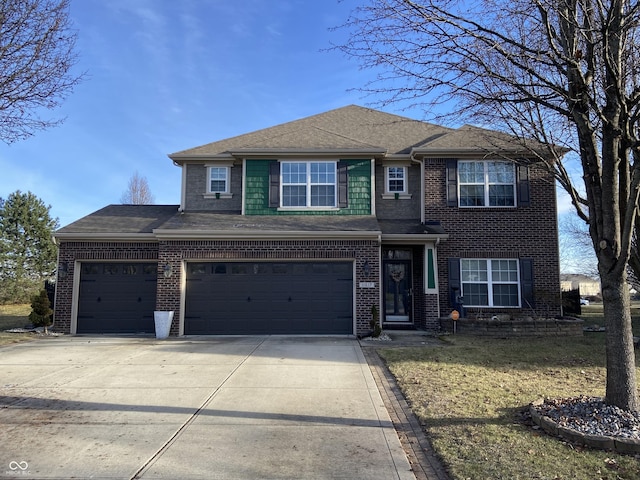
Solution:
{"label": "wide pale concrete driveway in front of the garage doors", "polygon": [[0,477],[412,480],[346,337],[0,347]]}

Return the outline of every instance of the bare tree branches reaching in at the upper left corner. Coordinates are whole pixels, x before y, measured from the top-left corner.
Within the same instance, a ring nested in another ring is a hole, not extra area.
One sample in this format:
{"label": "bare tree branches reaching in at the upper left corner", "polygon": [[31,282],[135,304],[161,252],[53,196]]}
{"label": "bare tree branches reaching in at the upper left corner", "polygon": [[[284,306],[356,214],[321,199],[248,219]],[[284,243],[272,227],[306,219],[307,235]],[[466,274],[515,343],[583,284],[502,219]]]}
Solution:
{"label": "bare tree branches reaching in at the upper left corner", "polygon": [[62,122],[42,118],[82,79],[74,75],[70,0],[0,0],[0,139],[9,144]]}

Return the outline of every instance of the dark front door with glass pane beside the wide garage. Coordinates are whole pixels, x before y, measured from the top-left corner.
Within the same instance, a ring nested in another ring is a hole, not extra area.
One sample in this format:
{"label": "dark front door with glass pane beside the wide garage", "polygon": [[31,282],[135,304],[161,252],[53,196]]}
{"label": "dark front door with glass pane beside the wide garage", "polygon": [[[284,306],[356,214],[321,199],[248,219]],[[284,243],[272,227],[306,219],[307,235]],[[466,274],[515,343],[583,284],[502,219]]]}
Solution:
{"label": "dark front door with glass pane beside the wide garage", "polygon": [[411,322],[411,260],[385,260],[384,322]]}

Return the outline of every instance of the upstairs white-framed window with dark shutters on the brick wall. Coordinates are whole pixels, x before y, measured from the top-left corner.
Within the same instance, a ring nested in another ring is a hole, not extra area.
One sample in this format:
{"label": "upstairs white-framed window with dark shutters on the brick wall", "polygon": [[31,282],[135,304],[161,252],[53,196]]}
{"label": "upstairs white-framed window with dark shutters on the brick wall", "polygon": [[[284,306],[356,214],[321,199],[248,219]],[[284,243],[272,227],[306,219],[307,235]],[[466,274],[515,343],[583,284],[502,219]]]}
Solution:
{"label": "upstairs white-framed window with dark shutters on the brick wall", "polygon": [[510,162],[459,161],[458,188],[461,207],[513,207],[515,166]]}

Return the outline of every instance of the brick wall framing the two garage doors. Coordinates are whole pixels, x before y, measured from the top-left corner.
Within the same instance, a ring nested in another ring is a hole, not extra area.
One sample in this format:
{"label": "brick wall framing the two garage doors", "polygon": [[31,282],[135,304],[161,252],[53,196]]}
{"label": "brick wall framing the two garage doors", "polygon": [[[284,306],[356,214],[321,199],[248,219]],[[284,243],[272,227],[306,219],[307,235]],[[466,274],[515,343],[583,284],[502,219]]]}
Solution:
{"label": "brick wall framing the two garage doors", "polygon": [[[183,262],[193,260],[351,260],[355,261],[356,335],[370,330],[371,307],[379,305],[379,245],[374,240],[281,240],[281,241],[162,241],[159,243],[63,242],[60,262],[68,264],[68,274],[58,280],[56,291],[55,329],[72,331],[72,290],[76,261],[91,260],[157,260],[158,279],[156,310],[175,312],[171,334],[181,332],[181,296],[184,288]],[[363,265],[370,265],[365,277]],[[165,275],[169,266],[171,274]],[[360,282],[373,282],[374,288],[361,288]]]}

